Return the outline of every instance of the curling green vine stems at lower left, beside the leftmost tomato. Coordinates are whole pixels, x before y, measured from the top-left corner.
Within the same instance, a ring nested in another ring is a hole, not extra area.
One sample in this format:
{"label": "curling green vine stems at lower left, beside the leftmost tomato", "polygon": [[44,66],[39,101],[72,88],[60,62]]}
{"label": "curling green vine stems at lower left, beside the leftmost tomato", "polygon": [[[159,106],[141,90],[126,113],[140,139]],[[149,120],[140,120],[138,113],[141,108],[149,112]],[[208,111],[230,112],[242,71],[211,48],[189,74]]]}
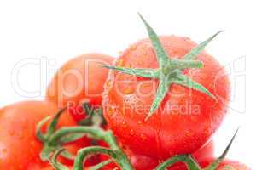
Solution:
{"label": "curling green vine stems at lower left, beside the leftmost tomato", "polygon": [[[42,133],[40,129],[45,122],[49,121],[49,117],[44,118],[44,120],[38,123],[37,136],[38,139],[44,143],[44,149],[40,155],[43,161],[49,161],[56,169],[66,170],[66,166],[56,161],[56,157],[61,155],[74,160],[73,168],[75,170],[82,170],[84,168],[84,161],[86,158],[88,158],[88,156],[93,154],[103,154],[110,156],[112,158],[111,160],[115,161],[119,167],[122,167],[122,169],[132,169],[129,159],[119,147],[119,144],[117,143],[111,130],[106,131],[97,123],[92,124],[91,126],[61,127],[60,129],[55,130],[60,116],[65,110],[66,108],[59,111],[55,115],[54,119],[49,123],[47,133],[45,134]],[[92,120],[94,120],[94,116],[97,115],[93,115]],[[101,146],[89,146],[80,149],[77,156],[72,156],[67,152],[67,150],[62,149],[63,144],[73,142],[84,137],[85,135],[91,139],[105,141],[108,144],[109,149]],[[52,156],[53,153],[55,153],[54,156]]]}

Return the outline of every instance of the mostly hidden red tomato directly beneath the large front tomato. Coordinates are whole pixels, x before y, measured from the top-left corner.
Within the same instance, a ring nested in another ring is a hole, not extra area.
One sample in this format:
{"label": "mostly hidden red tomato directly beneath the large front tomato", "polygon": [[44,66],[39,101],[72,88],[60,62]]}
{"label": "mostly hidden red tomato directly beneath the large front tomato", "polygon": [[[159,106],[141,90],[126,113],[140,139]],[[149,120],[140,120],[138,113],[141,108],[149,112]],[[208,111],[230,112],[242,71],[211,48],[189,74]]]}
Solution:
{"label": "mostly hidden red tomato directly beneath the large front tomato", "polygon": [[[105,144],[103,144],[105,146]],[[139,155],[137,153],[134,153],[131,150],[125,150],[125,154],[129,157],[131,161],[131,165],[134,167],[135,170],[153,170],[155,167],[157,167],[162,160],[156,160],[154,158],[148,157],[148,156],[143,156]],[[192,156],[195,158],[196,161],[203,161],[207,158],[210,158],[214,156],[214,144],[213,141],[211,140],[208,144],[203,146],[200,150],[196,150],[195,153],[192,154]],[[106,161],[108,159],[108,156],[102,156],[102,161]],[[183,163],[177,163],[170,169],[186,169],[185,165]],[[111,169],[116,169],[118,170],[119,167],[114,164],[110,163],[107,166],[103,167],[102,169],[104,170],[111,170]]]}

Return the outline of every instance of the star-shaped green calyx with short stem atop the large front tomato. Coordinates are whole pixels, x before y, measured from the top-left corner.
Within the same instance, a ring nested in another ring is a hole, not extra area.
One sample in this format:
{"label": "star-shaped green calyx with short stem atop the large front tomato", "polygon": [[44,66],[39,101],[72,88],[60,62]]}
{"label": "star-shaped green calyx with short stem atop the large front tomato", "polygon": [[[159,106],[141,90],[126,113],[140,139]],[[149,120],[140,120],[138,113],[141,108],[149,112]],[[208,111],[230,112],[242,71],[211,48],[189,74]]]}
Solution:
{"label": "star-shaped green calyx with short stem atop the large front tomato", "polygon": [[166,51],[163,48],[163,45],[161,44],[160,39],[155,33],[155,31],[152,29],[151,26],[148,25],[148,22],[143,19],[143,16],[141,14],[139,14],[139,16],[143,20],[143,23],[147,28],[148,37],[153,44],[159,68],[144,69],[110,65],[103,65],[103,67],[106,67],[114,71],[120,71],[125,74],[135,75],[137,77],[158,79],[160,81],[153,104],[151,105],[150,111],[148,113],[148,116],[146,116],[145,121],[147,121],[148,118],[154,114],[154,111],[158,109],[160,103],[162,102],[167,92],[169,91],[169,88],[172,85],[172,83],[179,84],[187,88],[195,89],[203,94],[207,94],[212,99],[217,100],[216,97],[207,90],[207,88],[203,87],[198,82],[194,82],[189,77],[183,75],[182,71],[183,69],[188,68],[201,68],[203,66],[203,63],[200,60],[195,60],[197,55],[201,54],[201,52],[207,46],[207,44],[211,42],[212,39],[222,31],[218,31],[212,37],[209,37],[206,41],[201,42],[197,47],[192,48],[188,54],[185,54],[183,56],[183,59],[171,59],[170,57],[168,57],[168,54],[166,54]]}

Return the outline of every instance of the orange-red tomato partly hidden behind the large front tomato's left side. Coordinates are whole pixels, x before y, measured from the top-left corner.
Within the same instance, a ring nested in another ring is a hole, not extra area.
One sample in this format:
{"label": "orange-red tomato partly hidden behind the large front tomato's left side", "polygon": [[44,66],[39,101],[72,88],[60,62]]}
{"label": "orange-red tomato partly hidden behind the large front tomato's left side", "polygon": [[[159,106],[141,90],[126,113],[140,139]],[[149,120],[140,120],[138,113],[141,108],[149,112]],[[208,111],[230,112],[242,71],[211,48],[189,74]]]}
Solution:
{"label": "orange-red tomato partly hidden behind the large front tomato's left side", "polygon": [[84,119],[84,111],[79,104],[102,105],[103,85],[108,77],[108,70],[102,65],[112,63],[113,58],[105,54],[83,54],[67,61],[49,83],[46,99],[61,108],[71,105],[69,113],[74,119]]}

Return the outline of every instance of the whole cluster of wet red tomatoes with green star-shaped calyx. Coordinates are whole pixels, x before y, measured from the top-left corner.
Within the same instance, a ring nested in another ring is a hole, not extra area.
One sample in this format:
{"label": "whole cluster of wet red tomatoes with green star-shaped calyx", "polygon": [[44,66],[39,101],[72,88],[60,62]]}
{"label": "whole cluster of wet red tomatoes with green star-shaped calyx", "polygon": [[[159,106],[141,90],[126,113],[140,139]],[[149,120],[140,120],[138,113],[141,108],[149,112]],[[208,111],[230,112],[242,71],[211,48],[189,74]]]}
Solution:
{"label": "whole cluster of wet red tomatoes with green star-shaped calyx", "polygon": [[[44,101],[24,101],[0,110],[0,169],[51,170],[60,165],[72,169],[79,161],[64,154],[50,160],[60,147],[74,156],[83,148],[107,153],[91,156],[84,169],[114,156],[127,157],[136,170],[154,169],[177,155],[191,154],[203,168],[215,160],[211,138],[226,114],[230,82],[218,61],[202,51],[213,37],[199,45],[187,37],[157,37],[143,22],[149,38],[132,44],[119,58],[106,54],[73,58],[56,72]],[[55,115],[63,108],[67,110],[60,117]],[[99,112],[106,123],[94,119]],[[96,129],[102,131],[98,134]],[[58,130],[90,131],[90,135],[55,142],[51,135]],[[103,134],[111,132],[117,144],[102,141]],[[49,152],[53,153],[44,159],[42,153]],[[222,161],[218,169],[225,167],[249,169],[235,161]],[[101,167],[121,168],[119,161]],[[168,167],[188,168],[184,162]]]}

